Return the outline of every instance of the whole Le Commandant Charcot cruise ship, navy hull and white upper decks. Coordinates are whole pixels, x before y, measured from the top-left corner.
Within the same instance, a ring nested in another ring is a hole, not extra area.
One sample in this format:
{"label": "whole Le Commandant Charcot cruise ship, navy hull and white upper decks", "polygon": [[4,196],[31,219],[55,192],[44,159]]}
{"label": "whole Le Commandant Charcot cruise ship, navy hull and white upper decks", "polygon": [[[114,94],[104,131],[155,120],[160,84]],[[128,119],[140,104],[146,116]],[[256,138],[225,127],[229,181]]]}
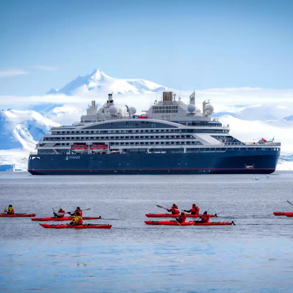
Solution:
{"label": "whole Le Commandant Charcot cruise ship, navy hull and white upper decks", "polygon": [[72,125],[52,127],[31,153],[33,175],[90,174],[269,174],[275,171],[280,143],[242,142],[229,125],[202,111],[195,92],[185,104],[163,92],[143,115],[115,106],[112,94],[100,108],[95,101]]}

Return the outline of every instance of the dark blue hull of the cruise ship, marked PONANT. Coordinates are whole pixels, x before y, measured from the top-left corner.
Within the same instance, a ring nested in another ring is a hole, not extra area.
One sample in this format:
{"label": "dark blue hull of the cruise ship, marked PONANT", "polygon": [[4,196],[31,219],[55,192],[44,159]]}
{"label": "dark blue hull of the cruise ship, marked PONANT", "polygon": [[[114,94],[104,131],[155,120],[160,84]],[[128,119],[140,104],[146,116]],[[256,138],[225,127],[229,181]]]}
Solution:
{"label": "dark blue hull of the cruise ship, marked PONANT", "polygon": [[34,154],[33,175],[104,174],[270,174],[280,151],[224,151],[197,153]]}

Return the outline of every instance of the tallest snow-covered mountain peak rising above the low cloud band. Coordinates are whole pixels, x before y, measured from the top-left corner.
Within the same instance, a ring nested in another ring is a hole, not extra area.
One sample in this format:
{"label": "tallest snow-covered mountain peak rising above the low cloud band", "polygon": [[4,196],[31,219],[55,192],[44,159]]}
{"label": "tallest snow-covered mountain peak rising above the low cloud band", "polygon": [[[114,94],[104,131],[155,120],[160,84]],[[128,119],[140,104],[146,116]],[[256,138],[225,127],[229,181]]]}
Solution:
{"label": "tallest snow-covered mountain peak rising above the low cloud band", "polygon": [[68,96],[87,93],[89,91],[103,91],[114,95],[125,93],[145,93],[165,91],[167,88],[145,79],[117,79],[106,75],[100,69],[95,69],[91,74],[80,75],[70,81],[63,88],[51,88],[47,95],[65,94]]}

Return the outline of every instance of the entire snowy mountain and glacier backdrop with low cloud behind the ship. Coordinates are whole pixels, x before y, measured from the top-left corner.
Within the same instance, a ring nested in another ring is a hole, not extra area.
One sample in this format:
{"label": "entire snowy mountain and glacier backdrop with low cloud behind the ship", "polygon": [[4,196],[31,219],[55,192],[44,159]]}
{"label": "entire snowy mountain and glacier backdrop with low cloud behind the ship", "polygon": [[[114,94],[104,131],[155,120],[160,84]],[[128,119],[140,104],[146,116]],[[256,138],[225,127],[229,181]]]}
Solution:
{"label": "entire snowy mountain and glacier backdrop with low cloud behind the ship", "polygon": [[[5,170],[26,170],[27,158],[35,144],[52,126],[78,121],[90,100],[103,104],[113,92],[115,104],[147,110],[162,91],[172,90],[145,79],[117,79],[95,69],[78,76],[60,90],[51,88],[44,96],[1,97],[0,166]],[[188,103],[192,91],[176,91],[176,99]],[[244,142],[261,137],[281,142],[277,170],[293,170],[293,90],[262,88],[212,88],[196,91],[196,104],[211,100],[219,117],[229,124],[230,133]],[[18,110],[15,110],[17,105]],[[2,170],[2,168],[0,168]]]}

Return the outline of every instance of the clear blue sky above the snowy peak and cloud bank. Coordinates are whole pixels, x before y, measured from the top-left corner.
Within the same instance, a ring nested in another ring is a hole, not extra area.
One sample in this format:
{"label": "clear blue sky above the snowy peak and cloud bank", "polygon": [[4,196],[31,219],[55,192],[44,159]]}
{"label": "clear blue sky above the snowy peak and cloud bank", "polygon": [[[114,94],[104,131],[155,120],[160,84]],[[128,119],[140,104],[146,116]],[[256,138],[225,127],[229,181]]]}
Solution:
{"label": "clear blue sky above the snowy peak and cloud bank", "polygon": [[180,90],[292,88],[292,15],[293,1],[0,0],[0,95],[95,68]]}

